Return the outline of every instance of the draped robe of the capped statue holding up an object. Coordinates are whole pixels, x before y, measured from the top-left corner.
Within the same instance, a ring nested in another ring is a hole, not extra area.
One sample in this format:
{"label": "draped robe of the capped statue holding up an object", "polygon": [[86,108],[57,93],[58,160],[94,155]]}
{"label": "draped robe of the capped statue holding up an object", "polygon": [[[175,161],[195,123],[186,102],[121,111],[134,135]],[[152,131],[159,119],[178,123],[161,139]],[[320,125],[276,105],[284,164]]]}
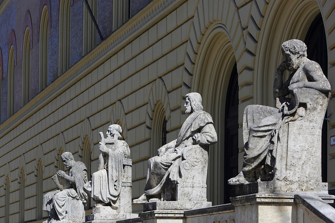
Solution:
{"label": "draped robe of the capped statue holding up an object", "polygon": [[129,146],[125,141],[117,140],[115,147],[115,151],[111,149],[108,151],[106,167],[92,174],[91,188],[88,189],[91,190],[93,199],[112,205],[120,194],[123,158],[129,158],[130,155]]}

